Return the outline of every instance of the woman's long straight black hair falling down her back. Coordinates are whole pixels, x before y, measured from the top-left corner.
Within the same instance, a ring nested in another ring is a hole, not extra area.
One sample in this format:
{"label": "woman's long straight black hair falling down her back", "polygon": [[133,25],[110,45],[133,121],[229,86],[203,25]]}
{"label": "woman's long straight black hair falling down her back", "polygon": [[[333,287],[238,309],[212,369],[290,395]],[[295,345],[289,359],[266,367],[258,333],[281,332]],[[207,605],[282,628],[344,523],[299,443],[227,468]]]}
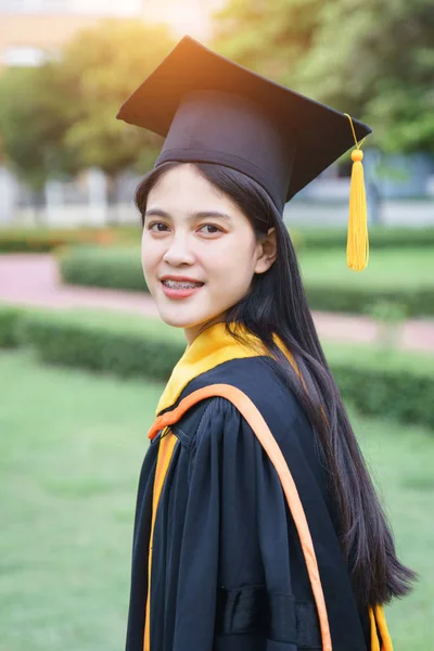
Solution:
{"label": "woman's long straight black hair falling down her back", "polygon": [[[136,204],[145,212],[150,190],[180,163],[153,169],[139,184]],[[411,589],[416,574],[396,557],[391,527],[375,493],[333,375],[318,340],[293,244],[267,193],[245,175],[220,165],[194,163],[196,169],[247,216],[257,239],[276,229],[277,259],[255,273],[248,294],[225,315],[227,329],[242,339],[242,323],[267,346],[278,372],[299,400],[321,442],[339,513],[340,539],[353,589],[360,604],[385,603]],[[276,333],[293,355],[299,375],[272,339]]]}

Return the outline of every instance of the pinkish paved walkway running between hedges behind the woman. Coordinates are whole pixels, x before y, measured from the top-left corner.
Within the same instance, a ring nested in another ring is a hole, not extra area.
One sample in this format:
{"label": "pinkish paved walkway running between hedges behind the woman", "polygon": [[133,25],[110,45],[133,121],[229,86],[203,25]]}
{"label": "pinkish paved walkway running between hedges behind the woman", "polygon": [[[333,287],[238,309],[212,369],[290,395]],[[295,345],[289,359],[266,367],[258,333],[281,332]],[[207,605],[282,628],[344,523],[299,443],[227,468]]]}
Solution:
{"label": "pinkish paved walkway running between hedges behind the woman", "polygon": [[[0,302],[48,308],[90,307],[157,316],[151,296],[139,292],[64,285],[50,255],[0,255]],[[340,342],[372,342],[376,324],[367,317],[314,312],[319,336]],[[399,336],[404,348],[434,353],[434,320],[410,320]]]}

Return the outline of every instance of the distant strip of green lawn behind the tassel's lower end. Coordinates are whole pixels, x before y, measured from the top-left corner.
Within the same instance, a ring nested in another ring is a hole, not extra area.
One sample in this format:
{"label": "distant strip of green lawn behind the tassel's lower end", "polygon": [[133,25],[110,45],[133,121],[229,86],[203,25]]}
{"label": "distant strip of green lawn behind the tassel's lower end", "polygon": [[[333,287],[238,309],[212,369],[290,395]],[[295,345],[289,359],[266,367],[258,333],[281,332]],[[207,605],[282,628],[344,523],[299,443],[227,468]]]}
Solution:
{"label": "distant strip of green lawn behind the tassel's lower end", "polygon": [[346,250],[302,251],[299,263],[306,282],[396,289],[434,283],[433,248],[381,248],[370,254],[369,266],[355,273],[346,266]]}

